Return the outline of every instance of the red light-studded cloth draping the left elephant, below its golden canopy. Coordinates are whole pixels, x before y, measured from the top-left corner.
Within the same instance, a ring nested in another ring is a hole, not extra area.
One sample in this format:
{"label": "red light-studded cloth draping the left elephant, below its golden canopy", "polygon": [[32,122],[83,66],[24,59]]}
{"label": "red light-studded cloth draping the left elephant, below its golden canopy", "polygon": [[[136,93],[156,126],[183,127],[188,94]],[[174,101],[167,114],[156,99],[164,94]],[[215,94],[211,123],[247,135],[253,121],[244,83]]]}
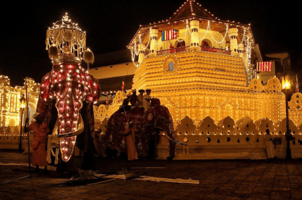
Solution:
{"label": "red light-studded cloth draping the left elephant, below its golden canopy", "polygon": [[65,162],[71,158],[75,144],[84,153],[100,150],[93,113],[93,104],[100,97],[100,85],[75,56],[70,58],[69,61],[55,63],[43,78],[37,105],[37,112],[47,121],[54,119],[52,134],[68,135],[59,141],[61,159]]}

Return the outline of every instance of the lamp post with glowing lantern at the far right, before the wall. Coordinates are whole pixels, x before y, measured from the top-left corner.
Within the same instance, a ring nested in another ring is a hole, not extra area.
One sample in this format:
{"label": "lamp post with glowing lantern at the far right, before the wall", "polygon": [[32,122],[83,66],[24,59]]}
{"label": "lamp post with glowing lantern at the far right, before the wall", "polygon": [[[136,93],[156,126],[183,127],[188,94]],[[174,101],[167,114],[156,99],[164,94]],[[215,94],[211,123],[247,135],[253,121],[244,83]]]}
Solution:
{"label": "lamp post with glowing lantern at the far right, before the wall", "polygon": [[291,134],[289,132],[289,115],[288,115],[288,95],[289,90],[291,89],[291,81],[289,76],[281,77],[281,83],[282,83],[282,89],[285,93],[285,107],[286,107],[286,133],[285,138],[287,141],[287,147],[286,147],[286,158],[290,159],[292,158],[292,152],[290,148],[290,140],[291,140]]}

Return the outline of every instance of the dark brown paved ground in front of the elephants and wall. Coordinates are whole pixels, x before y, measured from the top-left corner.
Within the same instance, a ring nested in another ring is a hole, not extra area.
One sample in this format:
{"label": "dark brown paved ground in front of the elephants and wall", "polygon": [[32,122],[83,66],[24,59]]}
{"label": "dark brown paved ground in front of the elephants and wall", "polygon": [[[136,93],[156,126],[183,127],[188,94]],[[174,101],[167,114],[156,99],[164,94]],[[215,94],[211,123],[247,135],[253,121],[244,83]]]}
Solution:
{"label": "dark brown paved ground in front of the elephants and wall", "polygon": [[[57,186],[69,180],[67,174],[29,173],[27,155],[0,151],[0,200],[301,200],[302,160],[120,160],[101,159],[103,172],[143,172],[163,178],[199,180],[200,184],[180,184],[115,179],[91,186]],[[80,158],[77,162],[80,163]],[[139,168],[158,167],[158,168]]]}

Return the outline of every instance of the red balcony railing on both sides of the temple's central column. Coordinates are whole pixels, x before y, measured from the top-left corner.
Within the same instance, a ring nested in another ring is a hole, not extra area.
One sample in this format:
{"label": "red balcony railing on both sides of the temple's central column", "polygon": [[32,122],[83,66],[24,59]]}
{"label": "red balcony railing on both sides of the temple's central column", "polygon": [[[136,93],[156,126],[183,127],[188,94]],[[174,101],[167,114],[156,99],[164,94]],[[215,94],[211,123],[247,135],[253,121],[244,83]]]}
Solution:
{"label": "red balcony railing on both sides of the temple's central column", "polygon": [[[156,53],[157,53],[157,55],[167,55],[167,54],[171,54],[171,53],[178,53],[178,52],[189,51],[189,50],[190,50],[190,46],[183,46],[183,47],[178,47],[178,48],[170,48],[170,49],[157,51]],[[200,50],[204,51],[204,52],[231,55],[231,50],[213,48],[213,47],[208,47],[208,46],[201,46]]]}

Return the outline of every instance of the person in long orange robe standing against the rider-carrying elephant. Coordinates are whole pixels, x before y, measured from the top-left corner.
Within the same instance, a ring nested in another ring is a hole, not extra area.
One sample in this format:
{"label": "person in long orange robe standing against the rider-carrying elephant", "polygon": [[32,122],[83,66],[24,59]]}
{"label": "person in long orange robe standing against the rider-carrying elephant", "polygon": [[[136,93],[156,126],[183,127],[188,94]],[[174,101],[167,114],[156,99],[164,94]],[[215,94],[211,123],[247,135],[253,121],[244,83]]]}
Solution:
{"label": "person in long orange robe standing against the rider-carrying elephant", "polygon": [[133,121],[127,122],[125,128],[128,160],[137,160],[139,159],[135,147],[135,131],[137,129],[133,127]]}

